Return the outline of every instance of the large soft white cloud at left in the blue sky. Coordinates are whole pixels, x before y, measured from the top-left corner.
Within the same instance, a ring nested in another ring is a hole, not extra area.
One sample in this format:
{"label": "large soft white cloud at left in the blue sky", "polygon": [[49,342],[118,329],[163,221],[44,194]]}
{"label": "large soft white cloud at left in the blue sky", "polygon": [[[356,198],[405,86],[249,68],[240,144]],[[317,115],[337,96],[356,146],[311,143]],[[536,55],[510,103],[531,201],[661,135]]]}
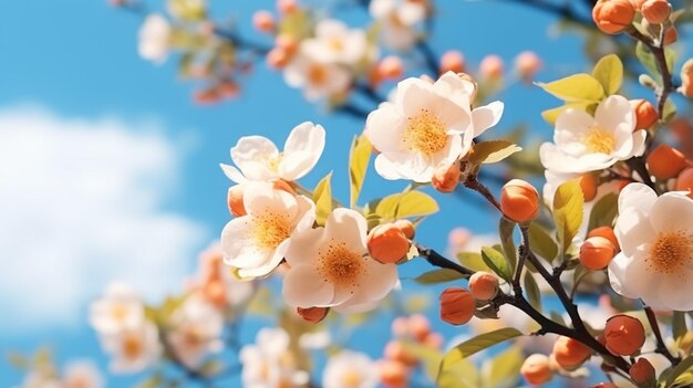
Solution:
{"label": "large soft white cloud at left in the blue sky", "polygon": [[182,154],[152,125],[0,111],[3,327],[84,322],[116,279],[148,297],[179,289],[206,234],[162,207]]}

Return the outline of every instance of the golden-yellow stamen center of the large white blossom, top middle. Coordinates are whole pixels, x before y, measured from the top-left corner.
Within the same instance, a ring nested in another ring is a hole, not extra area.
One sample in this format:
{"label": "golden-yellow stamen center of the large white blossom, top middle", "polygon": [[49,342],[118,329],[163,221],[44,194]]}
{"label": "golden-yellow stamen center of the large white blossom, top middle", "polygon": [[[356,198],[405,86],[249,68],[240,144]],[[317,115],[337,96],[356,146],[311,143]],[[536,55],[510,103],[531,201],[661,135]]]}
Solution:
{"label": "golden-yellow stamen center of the large white blossom, top middle", "polygon": [[417,116],[408,117],[403,141],[411,150],[433,155],[447,144],[445,125],[428,109],[421,109]]}

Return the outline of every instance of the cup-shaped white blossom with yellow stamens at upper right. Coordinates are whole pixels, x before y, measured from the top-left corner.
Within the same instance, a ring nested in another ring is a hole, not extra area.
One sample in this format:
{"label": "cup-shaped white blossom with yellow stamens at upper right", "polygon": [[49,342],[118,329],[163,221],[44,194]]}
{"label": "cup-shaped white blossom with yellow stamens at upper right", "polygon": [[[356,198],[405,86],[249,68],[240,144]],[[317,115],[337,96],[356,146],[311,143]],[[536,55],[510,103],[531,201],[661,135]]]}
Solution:
{"label": "cup-shaped white blossom with yellow stamens at upper right", "polygon": [[594,117],[568,108],[556,119],[554,143],[539,148],[541,164],[559,174],[587,172],[613,166],[644,151],[647,132],[635,128],[635,114],[623,96],[612,95]]}

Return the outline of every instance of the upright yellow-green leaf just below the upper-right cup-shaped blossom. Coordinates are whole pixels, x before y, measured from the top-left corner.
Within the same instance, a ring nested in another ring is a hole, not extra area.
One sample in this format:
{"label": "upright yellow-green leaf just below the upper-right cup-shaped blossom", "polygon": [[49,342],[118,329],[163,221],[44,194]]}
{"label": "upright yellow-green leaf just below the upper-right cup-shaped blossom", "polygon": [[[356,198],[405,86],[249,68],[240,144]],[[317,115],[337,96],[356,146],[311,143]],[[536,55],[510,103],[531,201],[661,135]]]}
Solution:
{"label": "upright yellow-green leaf just below the upper-right cup-shaped blossom", "polygon": [[568,251],[572,239],[580,230],[583,201],[578,179],[562,183],[554,195],[554,220],[562,253]]}

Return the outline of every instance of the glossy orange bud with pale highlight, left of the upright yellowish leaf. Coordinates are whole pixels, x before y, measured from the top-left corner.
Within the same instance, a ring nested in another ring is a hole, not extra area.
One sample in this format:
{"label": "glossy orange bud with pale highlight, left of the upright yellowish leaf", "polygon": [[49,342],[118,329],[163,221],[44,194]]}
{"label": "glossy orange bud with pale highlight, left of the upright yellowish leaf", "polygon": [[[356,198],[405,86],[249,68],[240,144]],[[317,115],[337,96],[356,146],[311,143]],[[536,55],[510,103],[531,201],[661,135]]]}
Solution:
{"label": "glossy orange bud with pale highlight, left of the upright yellowish leaf", "polygon": [[500,210],[513,221],[529,222],[539,214],[539,193],[528,182],[513,179],[500,191]]}

